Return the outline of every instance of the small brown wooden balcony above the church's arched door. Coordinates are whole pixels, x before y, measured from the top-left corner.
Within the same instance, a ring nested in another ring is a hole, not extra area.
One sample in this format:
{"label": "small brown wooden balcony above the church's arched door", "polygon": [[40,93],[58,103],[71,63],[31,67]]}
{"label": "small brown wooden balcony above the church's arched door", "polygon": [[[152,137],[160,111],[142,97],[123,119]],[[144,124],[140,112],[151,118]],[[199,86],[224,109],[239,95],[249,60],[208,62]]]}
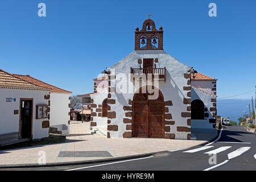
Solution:
{"label": "small brown wooden balcony above the church's arched door", "polygon": [[166,67],[164,68],[131,68],[131,74],[135,77],[151,74],[152,80],[164,80],[166,81]]}

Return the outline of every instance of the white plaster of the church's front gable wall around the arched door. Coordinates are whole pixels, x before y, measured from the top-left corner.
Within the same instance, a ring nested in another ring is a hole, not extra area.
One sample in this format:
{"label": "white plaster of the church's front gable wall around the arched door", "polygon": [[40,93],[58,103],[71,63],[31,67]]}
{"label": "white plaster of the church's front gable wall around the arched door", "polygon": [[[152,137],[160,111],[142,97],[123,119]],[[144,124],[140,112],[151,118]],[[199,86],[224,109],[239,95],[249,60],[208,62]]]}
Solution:
{"label": "white plaster of the church's front gable wall around the arched door", "polygon": [[[158,58],[159,63],[154,63],[156,64],[156,68],[166,67],[166,82],[159,81],[159,90],[163,93],[164,101],[171,100],[173,104],[173,106],[168,107],[172,114],[172,119],[170,119],[170,121],[175,121],[175,124],[170,125],[171,131],[169,133],[175,134],[175,139],[187,139],[187,135],[190,134],[190,132],[178,132],[177,127],[183,126],[190,128],[190,126],[187,125],[187,119],[189,118],[181,117],[181,112],[188,112],[187,106],[189,105],[183,104],[183,98],[188,98],[187,93],[190,92],[190,90],[183,90],[183,87],[190,85],[187,85],[188,79],[184,78],[184,73],[189,73],[192,67],[180,63],[180,61],[162,50],[139,50],[130,53],[117,64],[113,65],[113,67],[110,67],[109,71],[115,69],[116,76],[118,73],[128,76],[130,67],[139,68],[138,59],[143,60],[144,58]],[[113,74],[113,72],[111,73]],[[118,82],[118,76],[116,79],[115,84]],[[125,84],[126,82],[127,84],[132,83],[130,80],[122,80],[120,82],[122,82],[122,84]],[[123,110],[123,106],[129,106],[128,101],[133,100],[134,93],[139,87],[140,86],[135,88],[133,93],[118,93],[118,90],[115,90],[115,93],[111,93],[111,99],[115,100],[115,104],[109,104],[111,106],[110,111],[115,111],[117,114],[116,118],[111,119],[109,125],[118,125],[118,131],[108,131],[111,138],[123,137],[122,134],[127,131],[127,124],[123,123],[123,118],[126,118],[126,111]]]}

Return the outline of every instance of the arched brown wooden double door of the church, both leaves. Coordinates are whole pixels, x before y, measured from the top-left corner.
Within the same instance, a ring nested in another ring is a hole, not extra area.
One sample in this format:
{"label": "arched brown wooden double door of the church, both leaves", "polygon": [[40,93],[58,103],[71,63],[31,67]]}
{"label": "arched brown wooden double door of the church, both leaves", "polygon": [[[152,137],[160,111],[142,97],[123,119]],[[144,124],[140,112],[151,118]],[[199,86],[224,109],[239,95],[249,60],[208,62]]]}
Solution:
{"label": "arched brown wooden double door of the church, both leaves", "polygon": [[133,101],[132,137],[164,138],[164,101],[148,100],[148,94],[137,93]]}

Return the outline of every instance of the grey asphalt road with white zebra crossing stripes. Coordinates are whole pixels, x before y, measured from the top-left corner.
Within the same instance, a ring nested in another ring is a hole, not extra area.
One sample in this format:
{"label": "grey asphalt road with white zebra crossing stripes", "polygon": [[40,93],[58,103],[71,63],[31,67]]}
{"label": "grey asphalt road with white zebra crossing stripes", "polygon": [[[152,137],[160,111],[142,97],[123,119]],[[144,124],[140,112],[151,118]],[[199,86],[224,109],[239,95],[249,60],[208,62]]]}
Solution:
{"label": "grey asphalt road with white zebra crossing stripes", "polygon": [[[246,127],[241,126],[225,126],[222,129],[221,138],[215,143],[185,150],[167,151],[142,159],[64,167],[20,168],[15,170],[256,170],[256,135],[246,130]],[[205,154],[205,152],[212,154]]]}

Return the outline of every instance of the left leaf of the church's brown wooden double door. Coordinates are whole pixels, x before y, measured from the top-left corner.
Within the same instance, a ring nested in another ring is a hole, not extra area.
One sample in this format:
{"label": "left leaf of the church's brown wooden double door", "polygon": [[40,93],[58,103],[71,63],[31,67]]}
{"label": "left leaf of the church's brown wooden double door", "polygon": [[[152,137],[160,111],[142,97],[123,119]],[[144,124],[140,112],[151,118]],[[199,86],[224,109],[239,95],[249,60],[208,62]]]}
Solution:
{"label": "left leaf of the church's brown wooden double door", "polygon": [[147,137],[148,136],[148,109],[147,101],[134,101],[133,113],[134,123],[132,137]]}

